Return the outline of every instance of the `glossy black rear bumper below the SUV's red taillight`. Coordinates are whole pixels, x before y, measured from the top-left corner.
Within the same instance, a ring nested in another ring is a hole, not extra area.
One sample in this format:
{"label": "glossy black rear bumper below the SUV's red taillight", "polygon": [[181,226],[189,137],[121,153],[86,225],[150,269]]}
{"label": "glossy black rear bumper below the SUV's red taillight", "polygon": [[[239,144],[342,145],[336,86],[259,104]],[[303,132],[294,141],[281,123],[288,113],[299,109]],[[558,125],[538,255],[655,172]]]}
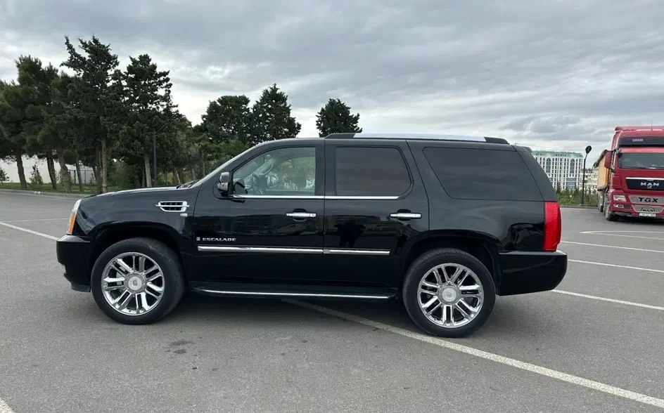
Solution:
{"label": "glossy black rear bumper below the SUV's red taillight", "polygon": [[563,251],[505,252],[499,254],[499,263],[499,296],[551,291],[567,273],[567,254]]}

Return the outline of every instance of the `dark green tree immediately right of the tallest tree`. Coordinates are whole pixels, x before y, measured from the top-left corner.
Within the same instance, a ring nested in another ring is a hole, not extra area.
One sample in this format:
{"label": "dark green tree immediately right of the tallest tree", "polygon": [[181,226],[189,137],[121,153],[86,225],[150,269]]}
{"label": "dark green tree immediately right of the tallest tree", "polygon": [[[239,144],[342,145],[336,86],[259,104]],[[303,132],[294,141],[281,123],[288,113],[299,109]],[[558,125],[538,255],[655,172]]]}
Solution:
{"label": "dark green tree immediately right of the tallest tree", "polygon": [[[142,163],[146,185],[152,186],[150,159],[153,143],[162,155],[172,153],[174,109],[169,71],[160,71],[149,55],[130,57],[122,75],[126,124],[120,129],[115,152],[127,164]],[[165,160],[162,157],[162,161]]]}

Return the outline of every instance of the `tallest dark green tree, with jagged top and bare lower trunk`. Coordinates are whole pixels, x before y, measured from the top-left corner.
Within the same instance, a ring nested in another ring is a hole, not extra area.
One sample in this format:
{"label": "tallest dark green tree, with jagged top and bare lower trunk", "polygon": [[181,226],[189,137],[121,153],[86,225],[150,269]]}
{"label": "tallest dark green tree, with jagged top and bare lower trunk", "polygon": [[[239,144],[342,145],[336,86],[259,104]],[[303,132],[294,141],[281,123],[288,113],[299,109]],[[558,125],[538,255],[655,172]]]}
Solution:
{"label": "tallest dark green tree, with jagged top and bare lower trunk", "polygon": [[117,55],[111,53],[110,45],[101,43],[95,36],[90,40],[79,39],[82,53],[72,45],[69,37],[65,37],[65,46],[69,56],[62,65],[77,76],[77,81],[70,84],[77,98],[68,110],[79,124],[81,146],[94,147],[95,178],[101,185],[101,192],[108,192],[108,152],[113,145],[117,123],[122,119],[122,100],[117,93],[120,63]]}

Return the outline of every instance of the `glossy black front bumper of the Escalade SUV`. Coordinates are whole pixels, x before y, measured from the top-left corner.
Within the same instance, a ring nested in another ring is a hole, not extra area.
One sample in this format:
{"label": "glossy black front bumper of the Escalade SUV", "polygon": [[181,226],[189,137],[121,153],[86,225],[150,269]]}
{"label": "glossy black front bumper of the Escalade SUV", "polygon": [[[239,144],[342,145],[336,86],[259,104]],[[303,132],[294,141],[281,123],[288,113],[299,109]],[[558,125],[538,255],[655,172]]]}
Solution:
{"label": "glossy black front bumper of the Escalade SUV", "polygon": [[65,266],[65,279],[75,291],[90,291],[90,242],[75,235],[63,235],[56,242],[58,263]]}

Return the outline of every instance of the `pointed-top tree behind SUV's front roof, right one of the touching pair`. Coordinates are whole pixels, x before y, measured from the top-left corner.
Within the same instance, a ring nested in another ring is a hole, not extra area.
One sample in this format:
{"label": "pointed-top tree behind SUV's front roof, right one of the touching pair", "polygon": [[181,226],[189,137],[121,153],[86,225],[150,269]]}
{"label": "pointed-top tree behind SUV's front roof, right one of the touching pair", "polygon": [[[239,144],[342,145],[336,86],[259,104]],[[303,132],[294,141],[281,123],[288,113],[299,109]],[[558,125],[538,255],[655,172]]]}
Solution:
{"label": "pointed-top tree behind SUV's front roof, right one of the touching pair", "polygon": [[288,96],[276,84],[263,89],[251,114],[254,133],[248,142],[250,145],[267,140],[295,138],[302,129],[302,124],[290,116]]}

